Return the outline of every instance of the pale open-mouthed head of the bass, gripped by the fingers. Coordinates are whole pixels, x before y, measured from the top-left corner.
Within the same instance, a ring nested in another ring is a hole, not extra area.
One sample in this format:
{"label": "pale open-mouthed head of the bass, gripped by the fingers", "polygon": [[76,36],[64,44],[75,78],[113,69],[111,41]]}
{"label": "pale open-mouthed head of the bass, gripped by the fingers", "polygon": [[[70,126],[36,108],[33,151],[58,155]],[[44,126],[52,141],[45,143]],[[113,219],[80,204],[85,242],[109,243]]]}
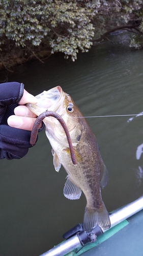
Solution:
{"label": "pale open-mouthed head of the bass, gripped by the fingers", "polygon": [[[78,118],[82,114],[70,95],[65,93],[60,86],[57,86],[38,94],[36,98],[38,102],[36,104],[27,103],[27,108],[37,116],[47,110],[58,113],[66,122],[73,146],[76,146],[82,133],[81,119]],[[59,143],[68,145],[66,134],[58,119],[46,117],[43,122],[48,139],[52,137]]]}

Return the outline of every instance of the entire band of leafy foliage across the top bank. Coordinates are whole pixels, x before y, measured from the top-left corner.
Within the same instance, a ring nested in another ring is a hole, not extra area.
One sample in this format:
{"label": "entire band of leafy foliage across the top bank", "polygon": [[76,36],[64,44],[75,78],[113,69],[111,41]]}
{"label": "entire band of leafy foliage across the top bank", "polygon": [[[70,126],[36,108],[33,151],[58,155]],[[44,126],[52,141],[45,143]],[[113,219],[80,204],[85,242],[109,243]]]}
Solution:
{"label": "entire band of leafy foliage across the top bank", "polygon": [[[0,0],[0,46],[43,46],[74,61],[116,26],[138,24],[130,46],[142,47],[141,0]],[[104,37],[103,37],[104,38]]]}

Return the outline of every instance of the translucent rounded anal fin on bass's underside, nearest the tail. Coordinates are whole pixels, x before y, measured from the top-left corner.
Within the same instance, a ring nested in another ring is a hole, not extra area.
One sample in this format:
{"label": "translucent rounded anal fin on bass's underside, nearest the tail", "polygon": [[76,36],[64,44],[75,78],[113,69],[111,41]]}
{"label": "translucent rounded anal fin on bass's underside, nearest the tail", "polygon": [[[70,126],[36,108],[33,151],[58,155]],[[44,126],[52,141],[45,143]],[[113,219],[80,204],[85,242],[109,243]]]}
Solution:
{"label": "translucent rounded anal fin on bass's underside, nearest the tail", "polygon": [[64,196],[70,200],[76,200],[80,198],[81,193],[81,189],[71,181],[69,176],[67,176],[67,181],[64,187]]}

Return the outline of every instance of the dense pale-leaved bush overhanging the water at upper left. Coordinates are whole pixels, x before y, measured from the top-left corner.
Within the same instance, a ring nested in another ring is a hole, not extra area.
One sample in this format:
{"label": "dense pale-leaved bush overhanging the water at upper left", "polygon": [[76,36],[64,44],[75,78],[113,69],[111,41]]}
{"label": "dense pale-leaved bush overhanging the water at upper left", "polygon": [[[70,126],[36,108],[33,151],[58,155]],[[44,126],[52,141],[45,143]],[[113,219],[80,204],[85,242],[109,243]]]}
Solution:
{"label": "dense pale-leaved bush overhanging the water at upper left", "polygon": [[64,52],[72,60],[78,49],[87,51],[94,36],[94,11],[84,1],[4,0],[0,4],[0,44],[6,39],[16,46],[49,45],[51,52]]}

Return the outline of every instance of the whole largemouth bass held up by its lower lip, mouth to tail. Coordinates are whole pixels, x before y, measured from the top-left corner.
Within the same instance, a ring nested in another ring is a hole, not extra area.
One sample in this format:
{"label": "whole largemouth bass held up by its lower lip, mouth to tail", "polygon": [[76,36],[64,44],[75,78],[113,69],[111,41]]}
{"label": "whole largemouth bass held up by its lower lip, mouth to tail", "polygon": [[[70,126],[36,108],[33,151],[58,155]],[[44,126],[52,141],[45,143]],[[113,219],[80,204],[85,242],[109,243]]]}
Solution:
{"label": "whole largemouth bass held up by its lower lip, mouth to tail", "polygon": [[74,101],[60,86],[37,95],[37,104],[28,103],[27,107],[36,115],[48,111],[58,113],[67,124],[76,156],[76,165],[71,160],[69,144],[60,122],[54,117],[46,117],[43,122],[46,135],[52,146],[53,164],[59,172],[61,164],[68,176],[64,187],[64,196],[79,199],[83,191],[87,199],[83,228],[91,231],[96,225],[107,229],[110,219],[101,198],[101,189],[108,181],[108,172],[101,158],[96,137],[88,122]]}

